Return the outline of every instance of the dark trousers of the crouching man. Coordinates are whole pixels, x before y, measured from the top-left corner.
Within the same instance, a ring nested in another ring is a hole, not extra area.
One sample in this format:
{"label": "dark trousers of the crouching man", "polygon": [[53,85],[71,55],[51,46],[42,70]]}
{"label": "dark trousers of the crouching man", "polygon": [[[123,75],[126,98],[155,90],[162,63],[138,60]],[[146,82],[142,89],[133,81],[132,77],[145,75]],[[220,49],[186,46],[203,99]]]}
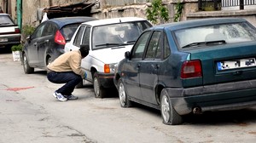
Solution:
{"label": "dark trousers of the crouching man", "polygon": [[63,95],[72,94],[75,86],[83,81],[82,77],[74,72],[49,72],[47,78],[51,83],[66,83],[55,91]]}

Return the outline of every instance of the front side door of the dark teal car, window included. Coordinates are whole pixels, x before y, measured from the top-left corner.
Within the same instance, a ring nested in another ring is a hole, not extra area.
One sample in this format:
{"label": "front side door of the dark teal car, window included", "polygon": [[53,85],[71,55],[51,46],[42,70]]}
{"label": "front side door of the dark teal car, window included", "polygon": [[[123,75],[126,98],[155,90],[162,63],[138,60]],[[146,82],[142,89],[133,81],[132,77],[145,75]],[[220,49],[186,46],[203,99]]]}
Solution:
{"label": "front side door of the dark teal car, window included", "polygon": [[146,49],[150,33],[151,31],[145,31],[142,36],[138,38],[137,43],[131,50],[131,60],[127,60],[124,70],[126,73],[125,85],[127,94],[138,100],[143,100],[138,73],[140,72],[144,50]]}

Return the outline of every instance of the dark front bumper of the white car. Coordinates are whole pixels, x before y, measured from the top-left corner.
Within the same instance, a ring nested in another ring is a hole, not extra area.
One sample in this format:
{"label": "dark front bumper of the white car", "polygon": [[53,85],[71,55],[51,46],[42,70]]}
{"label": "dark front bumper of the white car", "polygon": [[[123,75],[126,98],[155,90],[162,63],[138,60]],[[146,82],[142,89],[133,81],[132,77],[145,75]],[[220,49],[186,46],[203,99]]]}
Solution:
{"label": "dark front bumper of the white car", "polygon": [[102,73],[98,72],[98,79],[99,83],[102,85],[103,88],[113,88],[113,73]]}

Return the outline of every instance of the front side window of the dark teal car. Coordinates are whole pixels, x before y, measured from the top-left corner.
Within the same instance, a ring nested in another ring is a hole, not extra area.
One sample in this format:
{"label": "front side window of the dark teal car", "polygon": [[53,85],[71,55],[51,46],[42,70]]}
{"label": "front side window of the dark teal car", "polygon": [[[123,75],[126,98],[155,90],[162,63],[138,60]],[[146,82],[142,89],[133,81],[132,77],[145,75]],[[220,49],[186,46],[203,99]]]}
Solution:
{"label": "front side window of the dark teal car", "polygon": [[143,33],[141,37],[137,40],[137,43],[134,45],[131,53],[131,59],[143,59],[143,52],[146,48],[146,44],[148,41],[148,37],[150,36],[150,31],[146,31]]}

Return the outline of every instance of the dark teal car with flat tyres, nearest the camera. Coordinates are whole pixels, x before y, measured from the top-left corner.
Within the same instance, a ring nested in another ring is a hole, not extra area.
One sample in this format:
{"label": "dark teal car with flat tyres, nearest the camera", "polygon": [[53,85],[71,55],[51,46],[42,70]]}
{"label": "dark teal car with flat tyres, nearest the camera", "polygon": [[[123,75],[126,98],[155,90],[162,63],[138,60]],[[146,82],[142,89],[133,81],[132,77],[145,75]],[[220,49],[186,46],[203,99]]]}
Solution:
{"label": "dark teal car with flat tyres, nearest the camera", "polygon": [[154,26],[125,52],[114,73],[120,106],[159,109],[163,123],[183,115],[256,105],[256,29],[215,18]]}

